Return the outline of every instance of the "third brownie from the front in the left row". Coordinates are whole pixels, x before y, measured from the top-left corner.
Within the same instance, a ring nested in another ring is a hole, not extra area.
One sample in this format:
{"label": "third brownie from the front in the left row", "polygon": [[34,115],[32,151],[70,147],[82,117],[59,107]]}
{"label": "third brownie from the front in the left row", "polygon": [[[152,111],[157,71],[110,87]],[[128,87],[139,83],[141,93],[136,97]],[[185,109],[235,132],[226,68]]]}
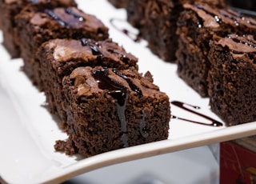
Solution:
{"label": "third brownie from the front in the left row", "polygon": [[43,42],[54,38],[93,38],[98,41],[109,36],[108,28],[98,18],[76,7],[42,11],[23,9],[16,22],[24,70],[39,90],[42,90],[40,66],[34,57]]}

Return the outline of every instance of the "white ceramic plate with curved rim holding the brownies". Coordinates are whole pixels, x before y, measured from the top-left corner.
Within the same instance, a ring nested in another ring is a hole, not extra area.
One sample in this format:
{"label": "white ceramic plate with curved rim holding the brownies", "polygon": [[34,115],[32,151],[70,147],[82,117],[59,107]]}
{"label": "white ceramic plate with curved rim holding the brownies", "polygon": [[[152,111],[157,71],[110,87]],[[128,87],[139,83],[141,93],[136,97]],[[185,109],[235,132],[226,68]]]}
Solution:
{"label": "white ceramic plate with curved rim holding the brownies", "polygon": [[[199,113],[220,121],[210,111],[208,98],[200,98],[178,78],[174,64],[163,62],[151,54],[145,42],[135,43],[125,34],[114,29],[110,24],[110,18],[125,20],[124,10],[115,10],[106,0],[77,2],[82,10],[95,14],[110,28],[110,36],[115,42],[120,43],[139,58],[140,71],[145,73],[150,70],[154,75],[154,82],[170,96],[171,101],[200,106]],[[172,119],[168,140],[114,150],[91,158],[69,157],[54,151],[55,140],[65,139],[66,134],[58,129],[54,118],[46,110],[44,94],[39,93],[20,70],[22,60],[11,60],[2,46],[0,50],[0,180],[2,182],[62,182],[75,175],[119,162],[256,134],[256,122],[233,127],[213,127]],[[172,106],[172,113],[182,118],[206,121],[175,106]]]}

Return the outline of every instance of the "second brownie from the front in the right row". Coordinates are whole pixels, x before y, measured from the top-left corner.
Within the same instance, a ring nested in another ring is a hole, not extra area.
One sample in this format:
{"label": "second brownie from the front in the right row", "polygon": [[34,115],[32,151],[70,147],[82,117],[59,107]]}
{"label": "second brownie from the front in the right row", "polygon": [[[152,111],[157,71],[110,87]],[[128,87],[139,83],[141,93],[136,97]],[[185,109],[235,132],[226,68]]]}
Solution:
{"label": "second brownie from the front in the right row", "polygon": [[202,97],[208,96],[206,78],[210,62],[207,54],[213,35],[254,34],[256,31],[253,18],[246,18],[228,8],[214,9],[202,4],[185,4],[177,25],[178,75]]}

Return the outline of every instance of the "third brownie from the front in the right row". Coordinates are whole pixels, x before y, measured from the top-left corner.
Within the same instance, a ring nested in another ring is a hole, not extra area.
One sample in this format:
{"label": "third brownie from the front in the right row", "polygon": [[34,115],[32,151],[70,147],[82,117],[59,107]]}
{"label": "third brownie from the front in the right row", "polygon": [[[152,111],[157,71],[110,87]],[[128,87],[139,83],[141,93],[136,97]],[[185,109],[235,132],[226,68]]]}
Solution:
{"label": "third brownie from the front in the right row", "polygon": [[[170,0],[130,0],[127,7],[127,20],[138,28],[140,36],[148,42],[150,50],[167,62],[175,62],[178,45],[177,19],[184,2]],[[211,6],[226,6],[224,1],[206,2]]]}

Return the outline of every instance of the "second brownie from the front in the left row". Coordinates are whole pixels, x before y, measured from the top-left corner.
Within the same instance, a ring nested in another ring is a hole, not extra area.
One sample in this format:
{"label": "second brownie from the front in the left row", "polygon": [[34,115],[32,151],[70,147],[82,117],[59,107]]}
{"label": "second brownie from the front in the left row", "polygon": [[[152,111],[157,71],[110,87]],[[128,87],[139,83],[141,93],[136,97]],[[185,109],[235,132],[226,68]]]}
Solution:
{"label": "second brownie from the front in the left row", "polygon": [[127,53],[111,39],[95,42],[92,39],[53,39],[42,44],[37,53],[43,91],[50,111],[66,124],[66,105],[62,78],[78,66],[103,66],[118,70],[134,67],[138,58]]}

